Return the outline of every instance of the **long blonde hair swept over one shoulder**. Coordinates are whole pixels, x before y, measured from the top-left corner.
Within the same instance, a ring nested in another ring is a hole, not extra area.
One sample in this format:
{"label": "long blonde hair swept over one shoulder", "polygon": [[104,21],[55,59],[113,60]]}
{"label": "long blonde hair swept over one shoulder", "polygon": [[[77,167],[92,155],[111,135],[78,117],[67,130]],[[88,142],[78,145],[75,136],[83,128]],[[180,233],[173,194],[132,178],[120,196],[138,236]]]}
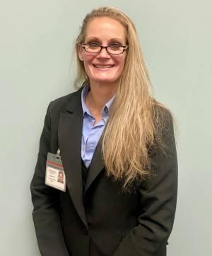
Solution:
{"label": "long blonde hair swept over one shoulder", "polygon": [[102,157],[107,174],[115,180],[124,181],[126,188],[134,180],[145,179],[151,174],[149,150],[163,148],[163,111],[155,111],[163,106],[151,96],[151,81],[134,23],[126,14],[113,7],[95,9],[83,20],[81,32],[76,39],[78,75],[75,84],[89,82],[83,62],[78,59],[78,44],[83,43],[88,22],[102,16],[122,23],[129,45],[117,94],[110,109],[110,118],[102,135]]}

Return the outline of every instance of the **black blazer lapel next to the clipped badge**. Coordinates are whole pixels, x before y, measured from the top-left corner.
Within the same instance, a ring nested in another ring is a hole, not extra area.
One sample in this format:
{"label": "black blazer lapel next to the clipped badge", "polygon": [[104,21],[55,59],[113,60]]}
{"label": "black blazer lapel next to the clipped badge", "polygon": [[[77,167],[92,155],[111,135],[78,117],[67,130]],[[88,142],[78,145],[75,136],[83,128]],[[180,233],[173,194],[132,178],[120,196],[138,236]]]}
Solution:
{"label": "black blazer lapel next to the clipped badge", "polygon": [[83,126],[83,111],[81,109],[81,90],[73,94],[66,112],[61,113],[58,128],[61,160],[66,173],[67,187],[73,204],[88,227],[83,206],[83,186],[81,168],[81,134]]}

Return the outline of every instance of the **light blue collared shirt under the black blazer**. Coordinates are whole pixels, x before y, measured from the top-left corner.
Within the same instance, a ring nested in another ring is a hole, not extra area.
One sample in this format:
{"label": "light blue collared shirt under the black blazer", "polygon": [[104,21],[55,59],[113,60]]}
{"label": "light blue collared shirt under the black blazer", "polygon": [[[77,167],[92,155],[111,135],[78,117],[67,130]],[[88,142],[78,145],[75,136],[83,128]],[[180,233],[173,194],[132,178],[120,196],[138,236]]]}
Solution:
{"label": "light blue collared shirt under the black blazer", "polygon": [[90,162],[93,157],[93,153],[95,151],[96,146],[98,145],[98,141],[102,135],[103,130],[105,129],[105,125],[107,123],[107,119],[109,118],[109,111],[112,101],[114,100],[114,96],[110,101],[108,101],[105,106],[102,108],[102,120],[93,125],[95,122],[95,118],[90,113],[89,109],[86,106],[85,99],[86,95],[90,87],[86,85],[81,94],[81,102],[83,108],[83,134],[81,141],[81,157],[86,167],[90,166]]}

